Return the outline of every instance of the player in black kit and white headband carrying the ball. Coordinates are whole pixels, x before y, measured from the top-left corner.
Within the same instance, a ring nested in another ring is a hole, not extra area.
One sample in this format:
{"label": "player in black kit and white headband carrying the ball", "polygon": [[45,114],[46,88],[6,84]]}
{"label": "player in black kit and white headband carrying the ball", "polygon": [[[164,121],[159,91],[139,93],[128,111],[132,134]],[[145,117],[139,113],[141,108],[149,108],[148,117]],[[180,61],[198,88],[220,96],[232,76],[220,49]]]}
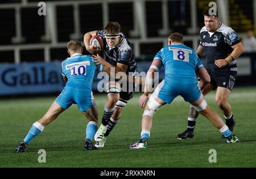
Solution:
{"label": "player in black kit and white headband carrying the ball", "polygon": [[[127,75],[133,75],[137,70],[133,47],[125,35],[120,32],[120,29],[121,26],[119,23],[109,22],[106,24],[104,30],[87,32],[84,35],[84,43],[88,52],[96,54],[98,53],[97,47],[90,45],[89,42],[92,36],[100,35],[104,41],[105,60],[97,54],[97,56],[93,55],[96,60],[95,62],[97,64],[101,63],[104,68],[114,69],[115,74],[123,72]],[[108,137],[110,131],[112,131],[113,127],[121,118],[122,110],[127,102],[133,97],[133,91],[124,89],[117,82],[117,79],[111,77],[113,76],[110,76],[110,80],[106,84],[108,100],[105,104],[102,123],[94,136],[96,147],[104,147],[106,137]]]}

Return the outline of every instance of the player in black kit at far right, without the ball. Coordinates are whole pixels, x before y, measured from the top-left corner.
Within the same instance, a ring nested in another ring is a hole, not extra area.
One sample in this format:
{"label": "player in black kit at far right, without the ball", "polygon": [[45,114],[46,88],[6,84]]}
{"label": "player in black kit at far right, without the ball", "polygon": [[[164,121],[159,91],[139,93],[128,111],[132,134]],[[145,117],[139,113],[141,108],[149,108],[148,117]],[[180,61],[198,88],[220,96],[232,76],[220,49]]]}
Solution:
{"label": "player in black kit at far right, without the ball", "polygon": [[[207,95],[210,91],[216,90],[216,104],[224,114],[226,125],[233,131],[236,121],[228,99],[237,77],[236,59],[243,53],[243,45],[237,33],[221,23],[217,14],[209,15],[208,11],[205,12],[204,24],[196,52],[198,56],[204,52],[206,54],[206,69],[210,75],[210,83],[202,92]],[[178,139],[193,138],[198,115],[193,106],[190,106],[187,129],[177,135]]]}

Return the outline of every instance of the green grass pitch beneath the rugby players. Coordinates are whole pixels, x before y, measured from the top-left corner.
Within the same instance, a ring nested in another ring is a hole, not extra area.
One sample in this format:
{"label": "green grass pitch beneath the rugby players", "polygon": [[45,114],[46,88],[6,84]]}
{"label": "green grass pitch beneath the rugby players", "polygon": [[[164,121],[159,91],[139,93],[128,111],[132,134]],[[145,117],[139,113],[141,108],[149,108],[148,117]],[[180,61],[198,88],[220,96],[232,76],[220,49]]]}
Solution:
{"label": "green grass pitch beneath the rugby players", "polygon": [[[237,121],[234,133],[240,139],[235,144],[225,143],[220,132],[202,116],[193,139],[177,140],[176,135],[187,126],[189,107],[178,97],[155,114],[148,148],[131,150],[129,144],[141,134],[143,110],[138,97],[139,93],[129,101],[100,150],[84,150],[88,121],[73,105],[19,154],[14,152],[16,145],[55,97],[0,100],[0,167],[256,167],[256,87],[234,88],[229,99]],[[96,95],[95,99],[100,123],[106,95]],[[214,103],[214,92],[209,93],[207,101],[221,114]],[[38,163],[39,149],[46,150],[46,163]],[[217,151],[217,163],[209,163],[210,149]]]}

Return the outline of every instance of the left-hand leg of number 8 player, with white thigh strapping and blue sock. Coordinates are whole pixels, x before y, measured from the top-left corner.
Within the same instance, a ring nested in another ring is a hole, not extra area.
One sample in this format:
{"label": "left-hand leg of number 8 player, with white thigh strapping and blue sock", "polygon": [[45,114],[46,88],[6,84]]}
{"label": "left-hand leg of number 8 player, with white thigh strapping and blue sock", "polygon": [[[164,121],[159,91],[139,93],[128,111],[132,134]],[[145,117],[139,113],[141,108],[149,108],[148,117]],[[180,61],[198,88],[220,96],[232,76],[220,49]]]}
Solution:
{"label": "left-hand leg of number 8 player, with white thigh strapping and blue sock", "polygon": [[147,141],[150,138],[152,129],[153,115],[165,104],[166,102],[161,100],[155,93],[150,96],[142,115],[141,139],[131,144],[130,148],[147,148]]}

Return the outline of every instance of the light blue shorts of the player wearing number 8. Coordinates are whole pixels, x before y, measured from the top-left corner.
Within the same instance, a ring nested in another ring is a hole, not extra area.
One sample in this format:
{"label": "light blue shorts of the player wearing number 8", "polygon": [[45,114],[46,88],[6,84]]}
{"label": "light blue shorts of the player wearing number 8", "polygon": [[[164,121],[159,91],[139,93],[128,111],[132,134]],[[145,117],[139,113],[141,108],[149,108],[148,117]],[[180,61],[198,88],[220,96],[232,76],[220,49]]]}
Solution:
{"label": "light blue shorts of the player wearing number 8", "polygon": [[201,91],[197,83],[182,84],[176,82],[167,82],[163,80],[155,88],[154,93],[164,102],[170,104],[175,97],[182,96],[187,102],[194,102],[199,99]]}

